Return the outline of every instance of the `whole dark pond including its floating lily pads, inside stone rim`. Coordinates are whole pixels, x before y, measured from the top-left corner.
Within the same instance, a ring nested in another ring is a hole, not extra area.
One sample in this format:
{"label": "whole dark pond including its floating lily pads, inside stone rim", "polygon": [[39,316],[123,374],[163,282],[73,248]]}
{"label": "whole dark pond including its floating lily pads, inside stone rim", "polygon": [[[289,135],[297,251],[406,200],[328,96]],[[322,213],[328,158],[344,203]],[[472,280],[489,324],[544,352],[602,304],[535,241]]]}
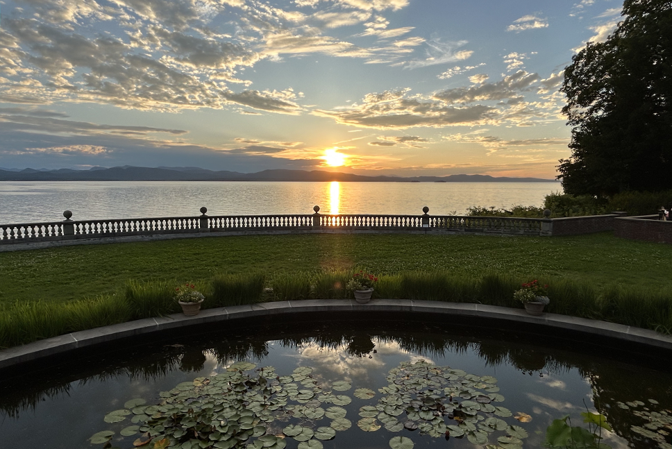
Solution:
{"label": "whole dark pond including its floating lily pads, inside stone rim", "polygon": [[582,412],[612,448],[672,447],[670,372],[576,341],[305,321],[137,343],[4,373],[0,448],[541,448]]}

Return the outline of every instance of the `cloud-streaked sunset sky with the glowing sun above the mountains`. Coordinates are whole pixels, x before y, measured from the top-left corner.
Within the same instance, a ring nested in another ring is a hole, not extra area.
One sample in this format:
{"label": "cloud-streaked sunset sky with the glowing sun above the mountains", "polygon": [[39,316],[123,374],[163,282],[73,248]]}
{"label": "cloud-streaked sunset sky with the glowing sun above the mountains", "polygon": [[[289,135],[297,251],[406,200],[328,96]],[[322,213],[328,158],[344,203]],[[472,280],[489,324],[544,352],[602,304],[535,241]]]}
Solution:
{"label": "cloud-streaked sunset sky with the glowing sun above the mountains", "polygon": [[618,0],[0,1],[0,167],[554,178]]}

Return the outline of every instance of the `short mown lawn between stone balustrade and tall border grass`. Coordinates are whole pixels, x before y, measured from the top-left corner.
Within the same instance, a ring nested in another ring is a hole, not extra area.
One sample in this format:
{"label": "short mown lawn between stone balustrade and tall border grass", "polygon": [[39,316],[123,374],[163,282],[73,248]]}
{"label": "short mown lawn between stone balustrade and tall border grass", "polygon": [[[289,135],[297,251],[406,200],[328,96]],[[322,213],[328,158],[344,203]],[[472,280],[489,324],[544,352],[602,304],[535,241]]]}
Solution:
{"label": "short mown lawn between stone balustrade and tall border grass", "polygon": [[362,267],[377,274],[498,272],[672,289],[672,246],[610,232],[574,237],[273,235],[65,246],[0,253],[0,304],[123,291],[128,280],[208,280],[216,273]]}

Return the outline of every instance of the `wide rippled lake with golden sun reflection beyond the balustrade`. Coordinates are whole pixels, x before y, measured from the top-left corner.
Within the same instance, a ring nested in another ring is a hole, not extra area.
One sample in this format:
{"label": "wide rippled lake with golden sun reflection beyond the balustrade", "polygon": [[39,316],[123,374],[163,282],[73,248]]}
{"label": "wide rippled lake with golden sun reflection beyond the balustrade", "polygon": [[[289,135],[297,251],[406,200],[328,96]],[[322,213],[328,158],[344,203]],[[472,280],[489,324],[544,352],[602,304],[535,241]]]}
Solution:
{"label": "wide rippled lake with golden sun reflection beyond the balustrade", "polygon": [[464,214],[467,208],[542,205],[560,183],[291,183],[72,181],[0,183],[0,223],[208,215]]}

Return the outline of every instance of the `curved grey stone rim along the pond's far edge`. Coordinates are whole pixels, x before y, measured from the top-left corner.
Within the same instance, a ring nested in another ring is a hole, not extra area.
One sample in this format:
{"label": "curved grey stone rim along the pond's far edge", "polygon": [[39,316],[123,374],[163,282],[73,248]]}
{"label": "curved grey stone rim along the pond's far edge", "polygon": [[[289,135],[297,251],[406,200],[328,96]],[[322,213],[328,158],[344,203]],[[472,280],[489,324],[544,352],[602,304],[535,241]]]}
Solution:
{"label": "curved grey stone rim along the pond's far edge", "polygon": [[183,328],[205,323],[216,323],[232,319],[242,319],[270,314],[292,314],[301,312],[410,312],[444,314],[446,316],[469,316],[471,318],[495,319],[513,323],[543,325],[548,328],[594,334],[599,337],[644,344],[653,348],[672,350],[672,337],[653,330],[635,328],[628,325],[595,321],[560,314],[528,315],[524,310],[496,305],[471,303],[442,303],[408,299],[374,299],[368,304],[355,300],[312,299],[278,301],[253,305],[237,305],[202,310],[196,316],[173,314],[128,323],[103,326],[90,330],[73,332],[22,346],[0,350],[0,370],[31,362],[42,357],[58,355],[76,348],[86,348],[135,335],[151,334],[162,330]]}

